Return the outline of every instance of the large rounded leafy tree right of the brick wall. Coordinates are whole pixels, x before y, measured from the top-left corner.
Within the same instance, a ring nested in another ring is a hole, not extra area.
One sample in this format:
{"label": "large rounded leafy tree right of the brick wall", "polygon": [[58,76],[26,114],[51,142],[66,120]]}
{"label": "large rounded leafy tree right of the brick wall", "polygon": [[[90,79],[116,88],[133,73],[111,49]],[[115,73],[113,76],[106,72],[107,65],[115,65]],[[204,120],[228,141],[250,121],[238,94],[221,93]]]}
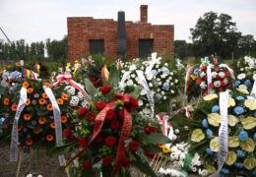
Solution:
{"label": "large rounded leafy tree right of the brick wall", "polygon": [[238,47],[241,35],[231,20],[227,14],[218,15],[212,11],[198,19],[195,28],[190,29],[196,56],[214,53],[223,58],[231,57]]}

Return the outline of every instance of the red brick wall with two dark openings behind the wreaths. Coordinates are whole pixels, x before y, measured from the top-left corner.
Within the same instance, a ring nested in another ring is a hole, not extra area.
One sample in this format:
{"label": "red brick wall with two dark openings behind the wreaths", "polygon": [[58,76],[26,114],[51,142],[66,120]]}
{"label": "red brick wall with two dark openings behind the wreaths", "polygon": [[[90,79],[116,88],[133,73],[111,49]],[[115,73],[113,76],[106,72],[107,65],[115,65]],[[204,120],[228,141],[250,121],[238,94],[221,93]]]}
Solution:
{"label": "red brick wall with two dark openings behind the wreaths", "polygon": [[[117,22],[112,19],[91,17],[68,18],[68,57],[72,62],[90,52],[89,39],[104,39],[104,51],[110,56],[117,53]],[[153,26],[147,23],[126,22],[127,56],[139,57],[139,38],[154,38],[154,51],[174,52],[174,26]]]}

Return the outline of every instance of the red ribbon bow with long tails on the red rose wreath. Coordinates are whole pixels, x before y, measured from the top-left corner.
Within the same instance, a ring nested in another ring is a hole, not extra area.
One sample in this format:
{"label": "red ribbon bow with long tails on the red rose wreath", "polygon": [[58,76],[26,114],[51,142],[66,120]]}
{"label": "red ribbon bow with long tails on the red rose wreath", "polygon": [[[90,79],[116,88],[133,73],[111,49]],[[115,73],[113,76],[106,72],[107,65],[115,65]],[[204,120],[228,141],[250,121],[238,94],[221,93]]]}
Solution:
{"label": "red ribbon bow with long tails on the red rose wreath", "polygon": [[[122,161],[125,155],[125,143],[124,141],[129,139],[130,137],[130,133],[131,133],[131,129],[132,129],[132,117],[129,114],[128,110],[135,110],[135,108],[138,106],[138,103],[135,103],[135,98],[131,97],[129,94],[122,94],[119,92],[115,93],[116,96],[116,100],[108,103],[105,105],[105,107],[97,114],[96,116],[96,120],[95,120],[95,127],[93,130],[93,136],[91,138],[91,141],[89,142],[89,144],[83,148],[80,152],[78,152],[64,167],[63,171],[66,169],[66,167],[72,162],[74,161],[76,158],[78,158],[96,139],[96,136],[98,135],[98,133],[100,132],[104,120],[105,120],[105,116],[106,116],[106,112],[109,109],[112,109],[115,107],[116,105],[116,101],[121,100],[124,103],[124,119],[123,119],[123,125],[122,125],[122,130],[121,130],[121,134],[120,134],[120,139],[119,139],[119,143],[118,143],[118,148],[117,148],[117,155],[116,155],[116,163],[113,169],[113,172],[111,174],[111,176],[113,176],[121,167],[122,165]],[[137,101],[136,101],[137,102]]]}

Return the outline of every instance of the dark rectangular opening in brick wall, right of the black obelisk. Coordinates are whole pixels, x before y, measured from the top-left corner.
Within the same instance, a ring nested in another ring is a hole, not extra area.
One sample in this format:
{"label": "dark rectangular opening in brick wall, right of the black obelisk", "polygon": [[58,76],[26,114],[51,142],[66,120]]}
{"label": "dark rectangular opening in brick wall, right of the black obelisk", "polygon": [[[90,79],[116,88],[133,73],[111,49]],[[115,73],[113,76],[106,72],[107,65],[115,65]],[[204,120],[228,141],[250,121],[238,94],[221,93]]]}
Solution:
{"label": "dark rectangular opening in brick wall, right of the black obelisk", "polygon": [[147,58],[153,52],[153,38],[139,39],[139,57]]}

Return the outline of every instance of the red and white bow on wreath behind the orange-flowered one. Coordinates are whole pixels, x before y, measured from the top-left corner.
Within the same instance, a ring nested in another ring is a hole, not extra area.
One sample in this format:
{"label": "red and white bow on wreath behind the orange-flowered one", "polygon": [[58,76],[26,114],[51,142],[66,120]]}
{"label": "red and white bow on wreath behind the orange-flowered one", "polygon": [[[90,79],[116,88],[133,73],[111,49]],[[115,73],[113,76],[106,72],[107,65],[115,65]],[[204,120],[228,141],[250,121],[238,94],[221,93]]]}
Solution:
{"label": "red and white bow on wreath behind the orange-flowered one", "polygon": [[75,89],[80,90],[86,97],[89,97],[91,99],[91,97],[88,95],[88,93],[86,92],[85,89],[81,88],[79,86],[78,83],[76,83],[73,79],[72,76],[70,74],[70,71],[67,70],[64,72],[64,74],[62,72],[60,72],[60,74],[57,76],[57,82],[53,84],[53,87],[57,87],[59,86],[61,83],[63,83],[64,81],[68,82],[69,85],[71,85],[72,87],[74,87]]}

